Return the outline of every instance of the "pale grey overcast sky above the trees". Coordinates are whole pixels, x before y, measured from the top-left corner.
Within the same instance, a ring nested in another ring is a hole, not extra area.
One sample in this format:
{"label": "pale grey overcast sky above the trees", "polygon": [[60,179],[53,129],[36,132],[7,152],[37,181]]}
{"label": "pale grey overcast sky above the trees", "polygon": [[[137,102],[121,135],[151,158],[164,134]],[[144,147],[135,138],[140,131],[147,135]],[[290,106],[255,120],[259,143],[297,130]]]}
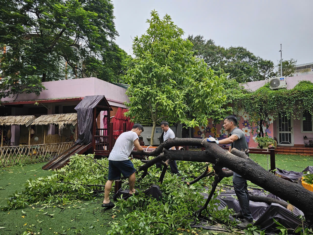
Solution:
{"label": "pale grey overcast sky above the trees", "polygon": [[155,9],[188,34],[201,34],[224,47],[243,46],[254,55],[297,64],[313,62],[313,0],[113,0],[116,43],[131,54],[132,38],[148,28]]}

